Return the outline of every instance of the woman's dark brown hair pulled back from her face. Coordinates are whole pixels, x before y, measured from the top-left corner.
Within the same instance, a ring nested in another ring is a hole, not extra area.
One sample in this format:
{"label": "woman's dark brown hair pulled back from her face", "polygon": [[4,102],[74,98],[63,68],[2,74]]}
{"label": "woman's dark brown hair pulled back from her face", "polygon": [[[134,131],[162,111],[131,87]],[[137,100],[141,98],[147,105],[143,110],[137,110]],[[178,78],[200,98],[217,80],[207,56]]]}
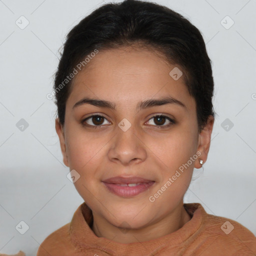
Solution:
{"label": "woman's dark brown hair pulled back from her face", "polygon": [[61,89],[59,85],[63,85],[75,66],[95,49],[134,45],[156,50],[169,63],[181,67],[185,85],[196,102],[198,131],[201,131],[209,115],[215,116],[211,60],[202,35],[179,13],[140,0],[104,4],[80,20],[66,35],[54,78],[60,124],[64,125],[65,105],[73,79],[68,80]]}

